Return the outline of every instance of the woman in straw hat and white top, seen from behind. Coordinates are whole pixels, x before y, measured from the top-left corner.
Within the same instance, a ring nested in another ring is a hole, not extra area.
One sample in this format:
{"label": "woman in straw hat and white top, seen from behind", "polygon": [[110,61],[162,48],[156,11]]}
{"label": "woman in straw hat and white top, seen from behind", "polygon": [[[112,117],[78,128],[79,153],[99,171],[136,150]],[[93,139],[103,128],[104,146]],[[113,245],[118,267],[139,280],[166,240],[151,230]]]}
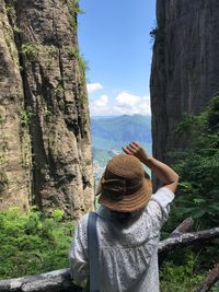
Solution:
{"label": "woman in straw hat and white top, seen from behind", "polygon": [[[100,291],[159,292],[160,230],[168,219],[178,175],[136,142],[123,150],[125,154],[108,162],[97,189]],[[154,195],[141,163],[162,183]],[[70,250],[74,281],[89,277],[87,226],[88,214],[78,223]]]}

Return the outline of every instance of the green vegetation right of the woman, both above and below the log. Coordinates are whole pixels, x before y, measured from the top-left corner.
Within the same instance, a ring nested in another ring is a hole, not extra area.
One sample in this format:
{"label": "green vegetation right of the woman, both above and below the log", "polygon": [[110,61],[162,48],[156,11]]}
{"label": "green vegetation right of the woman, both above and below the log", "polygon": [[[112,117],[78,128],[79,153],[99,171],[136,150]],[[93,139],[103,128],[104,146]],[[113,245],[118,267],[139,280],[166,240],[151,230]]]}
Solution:
{"label": "green vegetation right of the woman, both above and below the log", "polygon": [[[181,180],[178,196],[164,226],[165,235],[189,215],[195,219],[196,230],[218,225],[219,96],[214,97],[200,115],[186,115],[176,131],[178,139],[185,133],[189,139],[186,150],[171,154]],[[219,240],[214,240],[170,254],[161,269],[161,291],[193,291],[219,261],[218,246]],[[210,291],[219,291],[219,285]]]}

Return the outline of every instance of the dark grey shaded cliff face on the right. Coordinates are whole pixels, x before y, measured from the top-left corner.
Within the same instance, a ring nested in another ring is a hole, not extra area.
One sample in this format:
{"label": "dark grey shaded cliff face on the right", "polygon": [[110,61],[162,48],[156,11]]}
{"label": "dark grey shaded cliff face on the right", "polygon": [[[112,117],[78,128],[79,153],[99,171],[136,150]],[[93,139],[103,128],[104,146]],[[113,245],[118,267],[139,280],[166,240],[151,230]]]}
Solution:
{"label": "dark grey shaded cliff face on the right", "polygon": [[199,113],[219,90],[219,2],[157,0],[158,27],[151,68],[153,154],[186,145],[175,126]]}

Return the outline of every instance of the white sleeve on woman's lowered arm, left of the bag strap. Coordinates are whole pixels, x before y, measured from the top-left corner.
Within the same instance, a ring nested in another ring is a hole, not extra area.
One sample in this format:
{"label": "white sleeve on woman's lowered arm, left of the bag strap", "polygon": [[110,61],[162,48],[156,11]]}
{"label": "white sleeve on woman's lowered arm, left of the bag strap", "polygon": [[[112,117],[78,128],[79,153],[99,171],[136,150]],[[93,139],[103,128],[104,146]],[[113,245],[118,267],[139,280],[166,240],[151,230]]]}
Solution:
{"label": "white sleeve on woman's lowered arm, left of the bag strap", "polygon": [[74,231],[74,238],[71,243],[69,259],[70,273],[76,282],[88,279],[88,215],[83,217]]}

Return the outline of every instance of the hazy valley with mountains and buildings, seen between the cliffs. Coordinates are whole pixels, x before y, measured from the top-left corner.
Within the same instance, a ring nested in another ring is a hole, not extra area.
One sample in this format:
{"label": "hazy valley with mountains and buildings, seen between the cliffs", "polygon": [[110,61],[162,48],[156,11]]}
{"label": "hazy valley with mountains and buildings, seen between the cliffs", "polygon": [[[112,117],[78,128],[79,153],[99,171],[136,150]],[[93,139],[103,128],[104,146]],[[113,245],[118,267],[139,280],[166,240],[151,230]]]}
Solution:
{"label": "hazy valley with mountains and buildings, seen between the cliffs", "polygon": [[91,117],[92,155],[95,182],[108,160],[122,153],[122,147],[137,141],[151,153],[151,117],[123,115]]}

